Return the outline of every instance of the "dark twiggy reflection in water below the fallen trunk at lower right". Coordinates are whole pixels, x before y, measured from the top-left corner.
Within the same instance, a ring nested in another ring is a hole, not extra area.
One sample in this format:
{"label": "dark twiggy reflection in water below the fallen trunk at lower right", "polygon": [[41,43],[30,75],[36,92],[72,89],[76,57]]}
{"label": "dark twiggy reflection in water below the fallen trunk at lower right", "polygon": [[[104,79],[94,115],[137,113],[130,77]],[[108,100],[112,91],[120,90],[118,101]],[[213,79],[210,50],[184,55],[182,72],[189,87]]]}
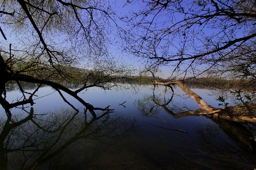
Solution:
{"label": "dark twiggy reflection in water below the fallen trunk at lower right", "polygon": [[232,125],[233,122],[221,120],[219,123],[197,126],[200,150],[205,152],[205,156],[223,163],[227,168],[241,169],[253,166],[256,156],[251,152],[250,132],[242,125]]}

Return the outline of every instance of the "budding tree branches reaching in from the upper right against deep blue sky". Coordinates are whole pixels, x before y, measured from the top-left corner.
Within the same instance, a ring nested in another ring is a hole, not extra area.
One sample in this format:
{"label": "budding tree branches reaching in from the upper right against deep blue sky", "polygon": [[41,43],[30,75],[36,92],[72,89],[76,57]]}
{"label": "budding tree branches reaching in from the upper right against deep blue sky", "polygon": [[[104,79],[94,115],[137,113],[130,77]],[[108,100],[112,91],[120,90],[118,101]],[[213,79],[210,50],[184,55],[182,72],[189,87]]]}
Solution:
{"label": "budding tree branches reaching in from the upper right against deep blue sky", "polygon": [[129,2],[144,8],[126,20],[131,36],[125,50],[145,58],[149,69],[168,65],[170,78],[207,75],[255,83],[255,1]]}

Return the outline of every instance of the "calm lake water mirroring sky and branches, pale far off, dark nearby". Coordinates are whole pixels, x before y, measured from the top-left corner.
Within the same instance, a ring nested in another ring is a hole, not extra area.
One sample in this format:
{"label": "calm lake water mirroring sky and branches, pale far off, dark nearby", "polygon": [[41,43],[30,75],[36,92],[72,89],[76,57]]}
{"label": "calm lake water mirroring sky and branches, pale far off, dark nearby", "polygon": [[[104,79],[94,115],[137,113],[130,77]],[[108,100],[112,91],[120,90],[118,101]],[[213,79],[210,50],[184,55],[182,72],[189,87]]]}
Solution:
{"label": "calm lake water mirroring sky and branches, pale far off, dark nearby", "polygon": [[[32,92],[32,88],[27,91]],[[174,94],[170,89],[164,93],[164,87],[154,91],[153,86],[137,89],[90,88],[81,93],[80,97],[94,107],[110,105],[114,109],[98,120],[89,112],[84,114],[82,105],[65,95],[81,112],[73,111],[51,87],[42,87],[36,93],[34,115],[29,114],[30,105],[24,111],[12,110],[13,120],[19,126],[7,122],[1,108],[0,154],[7,157],[1,160],[1,166],[3,169],[256,168],[249,140],[252,135],[242,125],[184,113],[199,107],[177,87]],[[196,87],[191,90],[218,107],[220,102],[210,90]],[[18,91],[7,92],[10,102],[19,96]],[[101,114],[97,112],[98,116]]]}

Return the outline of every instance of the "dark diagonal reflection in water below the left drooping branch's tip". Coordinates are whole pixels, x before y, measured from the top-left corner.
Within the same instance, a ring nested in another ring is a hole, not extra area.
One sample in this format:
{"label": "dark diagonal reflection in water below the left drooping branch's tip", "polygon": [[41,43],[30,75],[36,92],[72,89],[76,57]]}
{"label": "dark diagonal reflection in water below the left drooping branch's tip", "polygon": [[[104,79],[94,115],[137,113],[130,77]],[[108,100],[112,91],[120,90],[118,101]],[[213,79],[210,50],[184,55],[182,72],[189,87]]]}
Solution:
{"label": "dark diagonal reflection in water below the left drooping branch's tip", "polygon": [[[103,116],[106,116],[106,114],[109,114],[111,112],[105,112],[104,114],[102,114]],[[102,115],[98,118],[102,118]],[[86,124],[83,124],[82,128],[79,129],[79,131],[77,131],[77,133],[74,133],[75,135],[72,135],[69,139],[67,139],[67,141],[63,141],[64,143],[61,143],[61,146],[58,146],[59,142],[61,142],[61,140],[63,140],[63,135],[65,135],[64,131],[67,130],[67,126],[73,124],[74,122],[74,118],[75,116],[77,116],[77,113],[72,116],[72,118],[70,120],[68,120],[67,124],[65,124],[65,126],[63,126],[60,129],[60,133],[57,135],[56,139],[53,139],[53,143],[51,143],[51,145],[44,150],[44,152],[42,152],[42,154],[40,154],[40,156],[34,161],[34,163],[28,165],[26,168],[24,169],[33,169],[38,167],[39,165],[46,163],[47,161],[49,161],[50,159],[54,158],[56,155],[60,154],[60,152],[63,152],[66,148],[70,147],[72,145],[72,143],[76,142],[79,139],[96,139],[97,137],[108,137],[108,138],[114,138],[114,137],[119,137],[121,135],[125,135],[126,133],[128,133],[131,129],[131,126],[133,126],[133,124],[129,124],[130,126],[122,129],[124,131],[119,131],[120,127],[119,125],[121,124],[117,124],[114,123],[112,124],[111,122],[108,122],[110,117],[106,117],[104,120],[98,122],[98,118],[92,118],[89,122],[87,122]],[[96,122],[97,121],[97,122]],[[114,127],[109,128],[108,126],[105,127],[106,125],[114,125]],[[122,124],[123,125],[123,124]],[[122,126],[121,125],[121,126]],[[109,129],[108,129],[109,128]],[[98,135],[101,134],[100,132],[103,130],[104,135]],[[104,131],[107,130],[107,131]],[[114,130],[118,130],[119,133],[115,134],[113,136],[109,135],[112,134],[112,132]],[[50,149],[52,148],[56,148],[56,150],[51,151]]]}

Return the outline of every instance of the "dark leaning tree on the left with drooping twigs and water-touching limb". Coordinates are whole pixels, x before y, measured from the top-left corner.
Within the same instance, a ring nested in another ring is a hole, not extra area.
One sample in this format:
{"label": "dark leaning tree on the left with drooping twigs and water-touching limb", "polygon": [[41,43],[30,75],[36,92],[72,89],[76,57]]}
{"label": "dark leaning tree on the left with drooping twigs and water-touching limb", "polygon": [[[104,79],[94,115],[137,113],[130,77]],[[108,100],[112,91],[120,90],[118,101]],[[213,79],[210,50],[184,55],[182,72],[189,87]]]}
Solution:
{"label": "dark leaning tree on the left with drooping twigs and water-touching limb", "polygon": [[[89,87],[109,89],[116,85],[111,83],[114,75],[123,75],[120,79],[131,73],[129,66],[118,63],[108,52],[111,31],[119,29],[110,5],[82,0],[3,0],[0,13],[5,39],[0,47],[0,103],[7,116],[11,117],[11,108],[33,105],[42,84],[54,88],[76,111],[63,92],[75,97],[94,117],[95,110],[110,111],[109,107],[94,108],[77,95]],[[6,83],[10,81],[15,81],[23,94],[14,103],[6,100]],[[20,82],[39,86],[28,94]],[[64,84],[74,84],[77,89],[72,91]]]}

